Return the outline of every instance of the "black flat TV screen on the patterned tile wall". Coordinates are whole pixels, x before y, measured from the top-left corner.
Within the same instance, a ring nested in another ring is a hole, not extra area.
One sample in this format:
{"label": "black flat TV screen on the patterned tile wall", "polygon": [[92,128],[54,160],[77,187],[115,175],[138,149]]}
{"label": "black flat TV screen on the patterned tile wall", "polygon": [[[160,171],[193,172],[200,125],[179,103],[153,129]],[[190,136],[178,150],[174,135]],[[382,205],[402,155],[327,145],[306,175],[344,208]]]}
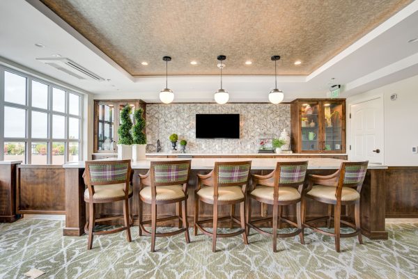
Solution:
{"label": "black flat TV screen on the patterned tile wall", "polygon": [[240,138],[240,115],[196,114],[196,138]]}

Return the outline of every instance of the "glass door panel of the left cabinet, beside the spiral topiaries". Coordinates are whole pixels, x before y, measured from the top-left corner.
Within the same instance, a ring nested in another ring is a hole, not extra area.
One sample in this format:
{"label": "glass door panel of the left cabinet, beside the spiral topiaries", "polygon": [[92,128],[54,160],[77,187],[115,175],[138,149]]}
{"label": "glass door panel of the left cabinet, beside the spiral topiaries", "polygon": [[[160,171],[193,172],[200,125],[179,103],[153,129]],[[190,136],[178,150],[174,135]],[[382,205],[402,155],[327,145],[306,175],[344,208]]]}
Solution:
{"label": "glass door panel of the left cabinet, beside the spiral topiaries", "polygon": [[98,150],[114,151],[114,106],[99,104]]}

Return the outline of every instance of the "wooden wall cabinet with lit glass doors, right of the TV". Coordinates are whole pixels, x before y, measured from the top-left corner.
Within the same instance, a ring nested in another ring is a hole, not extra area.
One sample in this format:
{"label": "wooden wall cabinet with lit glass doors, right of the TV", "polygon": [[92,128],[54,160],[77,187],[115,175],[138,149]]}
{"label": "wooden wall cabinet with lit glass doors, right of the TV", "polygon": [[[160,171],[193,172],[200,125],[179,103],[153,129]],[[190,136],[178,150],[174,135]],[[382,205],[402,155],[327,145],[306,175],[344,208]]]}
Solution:
{"label": "wooden wall cabinet with lit glass doors, right of the TV", "polygon": [[293,152],[346,153],[346,99],[295,99],[291,118]]}

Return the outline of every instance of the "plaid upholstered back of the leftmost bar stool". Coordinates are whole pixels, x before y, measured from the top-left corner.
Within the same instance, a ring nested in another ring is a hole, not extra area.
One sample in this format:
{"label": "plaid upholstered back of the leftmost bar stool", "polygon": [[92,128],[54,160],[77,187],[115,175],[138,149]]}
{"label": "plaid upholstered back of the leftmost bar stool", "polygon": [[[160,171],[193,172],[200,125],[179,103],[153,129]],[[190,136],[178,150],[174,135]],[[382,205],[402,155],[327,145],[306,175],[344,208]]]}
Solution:
{"label": "plaid upholstered back of the leftmost bar stool", "polygon": [[86,161],[85,174],[85,182],[90,185],[130,182],[130,160]]}

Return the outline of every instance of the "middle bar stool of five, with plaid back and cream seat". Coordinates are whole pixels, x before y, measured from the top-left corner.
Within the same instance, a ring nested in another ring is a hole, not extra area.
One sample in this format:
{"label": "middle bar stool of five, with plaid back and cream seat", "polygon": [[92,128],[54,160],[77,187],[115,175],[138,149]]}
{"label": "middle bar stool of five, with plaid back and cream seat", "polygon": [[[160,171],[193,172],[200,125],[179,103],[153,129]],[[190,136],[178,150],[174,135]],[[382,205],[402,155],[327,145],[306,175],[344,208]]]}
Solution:
{"label": "middle bar stool of five, with plaid back and cream seat", "polygon": [[[217,237],[235,237],[242,234],[244,244],[248,244],[245,230],[245,191],[248,184],[251,161],[215,162],[215,168],[208,175],[197,175],[197,189],[194,191],[194,235],[197,228],[212,237],[212,252],[216,252]],[[202,187],[203,186],[203,187]],[[199,200],[213,205],[213,218],[199,221]],[[233,216],[233,205],[240,203],[240,220]],[[231,216],[218,217],[219,205],[231,205]],[[217,222],[230,219],[241,225],[241,229],[231,233],[217,233]],[[212,233],[202,228],[203,223],[212,223]]]}

